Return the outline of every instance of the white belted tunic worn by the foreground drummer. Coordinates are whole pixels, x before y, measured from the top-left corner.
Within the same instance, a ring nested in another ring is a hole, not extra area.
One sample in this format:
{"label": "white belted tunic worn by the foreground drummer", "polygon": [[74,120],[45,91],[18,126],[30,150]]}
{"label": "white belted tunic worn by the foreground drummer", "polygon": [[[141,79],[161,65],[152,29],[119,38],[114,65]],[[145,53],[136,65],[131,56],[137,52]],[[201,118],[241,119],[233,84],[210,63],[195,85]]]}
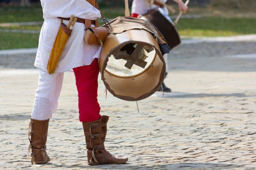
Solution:
{"label": "white belted tunic worn by the foreground drummer", "polygon": [[[47,71],[47,64],[54,40],[60,28],[61,20],[57,17],[70,17],[95,20],[100,18],[100,11],[85,0],[41,0],[44,24],[40,32],[35,66]],[[67,25],[68,21],[63,20]],[[88,45],[83,41],[84,24],[77,22],[68,38],[61,54],[56,73],[68,71],[74,67],[90,65],[95,58],[99,58],[100,47]]]}

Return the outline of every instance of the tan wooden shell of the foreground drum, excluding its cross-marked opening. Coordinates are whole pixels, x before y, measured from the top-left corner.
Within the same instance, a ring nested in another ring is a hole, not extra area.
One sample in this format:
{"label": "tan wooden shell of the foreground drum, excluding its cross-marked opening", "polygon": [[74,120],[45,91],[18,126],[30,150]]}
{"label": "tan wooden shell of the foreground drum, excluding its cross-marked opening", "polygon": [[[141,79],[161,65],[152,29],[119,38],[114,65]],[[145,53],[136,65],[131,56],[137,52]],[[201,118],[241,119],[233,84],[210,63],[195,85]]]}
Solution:
{"label": "tan wooden shell of the foreground drum, excluding its cross-marked opening", "polygon": [[[109,73],[106,70],[108,57],[128,43],[153,46],[156,50],[156,57],[141,73],[132,76],[116,76]],[[154,94],[161,87],[165,74],[165,63],[159,51],[159,45],[154,36],[144,29],[131,29],[120,34],[109,34],[102,46],[99,68],[102,81],[109,92],[126,101],[139,101]]]}

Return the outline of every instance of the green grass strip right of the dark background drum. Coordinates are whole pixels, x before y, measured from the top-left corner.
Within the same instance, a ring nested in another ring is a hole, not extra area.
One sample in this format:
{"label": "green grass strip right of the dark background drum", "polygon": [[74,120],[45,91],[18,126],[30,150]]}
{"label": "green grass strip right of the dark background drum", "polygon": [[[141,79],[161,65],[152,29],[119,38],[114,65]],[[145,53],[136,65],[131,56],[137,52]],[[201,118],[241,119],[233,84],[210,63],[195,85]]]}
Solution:
{"label": "green grass strip right of the dark background drum", "polygon": [[180,36],[236,36],[256,34],[255,18],[184,18],[177,24]]}

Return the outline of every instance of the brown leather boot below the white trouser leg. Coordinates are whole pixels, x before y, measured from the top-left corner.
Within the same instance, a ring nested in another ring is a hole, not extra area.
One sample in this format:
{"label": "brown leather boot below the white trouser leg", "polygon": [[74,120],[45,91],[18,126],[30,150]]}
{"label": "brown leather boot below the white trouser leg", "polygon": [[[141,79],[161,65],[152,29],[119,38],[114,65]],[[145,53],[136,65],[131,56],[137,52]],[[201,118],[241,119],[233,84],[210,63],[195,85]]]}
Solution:
{"label": "brown leather boot below the white trouser leg", "polygon": [[[47,140],[47,132],[48,132],[48,120],[34,120],[31,118],[31,122],[29,123],[29,150],[31,148],[31,164],[46,164],[50,161],[50,158],[46,153],[46,140]],[[29,155],[28,155],[29,156]]]}

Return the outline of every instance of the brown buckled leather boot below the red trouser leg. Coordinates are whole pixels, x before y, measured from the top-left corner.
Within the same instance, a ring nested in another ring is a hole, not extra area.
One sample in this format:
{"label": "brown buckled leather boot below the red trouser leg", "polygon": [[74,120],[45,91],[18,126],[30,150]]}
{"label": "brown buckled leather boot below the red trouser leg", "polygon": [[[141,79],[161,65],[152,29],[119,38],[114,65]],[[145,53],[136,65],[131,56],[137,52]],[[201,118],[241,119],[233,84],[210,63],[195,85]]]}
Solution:
{"label": "brown buckled leather boot below the red trouser leg", "polygon": [[108,116],[102,116],[99,120],[83,123],[87,159],[90,165],[124,164],[128,160],[116,158],[105,149],[108,118]]}

